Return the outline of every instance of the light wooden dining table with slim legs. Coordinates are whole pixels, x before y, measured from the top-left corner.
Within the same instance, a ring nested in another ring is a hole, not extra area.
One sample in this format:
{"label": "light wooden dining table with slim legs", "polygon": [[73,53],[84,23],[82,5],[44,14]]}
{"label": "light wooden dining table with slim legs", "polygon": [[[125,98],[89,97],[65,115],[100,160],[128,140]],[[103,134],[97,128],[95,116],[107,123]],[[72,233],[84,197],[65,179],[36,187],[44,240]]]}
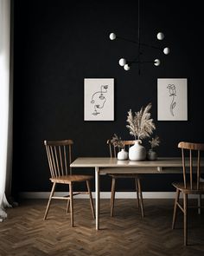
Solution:
{"label": "light wooden dining table with slim legs", "polygon": [[[188,167],[188,161],[186,162]],[[182,158],[161,157],[156,161],[119,161],[110,157],[79,157],[70,167],[95,169],[96,230],[99,230],[100,175],[103,174],[182,174]],[[201,159],[201,167],[204,160]]]}

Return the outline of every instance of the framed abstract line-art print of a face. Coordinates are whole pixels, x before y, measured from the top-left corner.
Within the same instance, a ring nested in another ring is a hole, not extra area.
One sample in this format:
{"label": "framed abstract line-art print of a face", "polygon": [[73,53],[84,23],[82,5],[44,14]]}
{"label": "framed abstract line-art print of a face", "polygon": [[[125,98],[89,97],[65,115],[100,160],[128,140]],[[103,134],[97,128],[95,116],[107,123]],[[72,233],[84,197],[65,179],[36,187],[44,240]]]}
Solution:
{"label": "framed abstract line-art print of a face", "polygon": [[84,79],[84,120],[114,121],[114,79]]}

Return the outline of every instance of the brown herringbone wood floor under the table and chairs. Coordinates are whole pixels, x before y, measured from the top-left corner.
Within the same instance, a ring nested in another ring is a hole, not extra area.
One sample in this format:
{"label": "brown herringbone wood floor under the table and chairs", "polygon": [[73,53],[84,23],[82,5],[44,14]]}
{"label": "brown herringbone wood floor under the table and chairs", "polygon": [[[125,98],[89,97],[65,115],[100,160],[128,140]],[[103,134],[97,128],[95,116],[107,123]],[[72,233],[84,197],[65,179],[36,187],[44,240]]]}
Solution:
{"label": "brown herringbone wood floor under the table and chairs", "polygon": [[101,230],[96,231],[88,200],[74,200],[74,227],[66,202],[55,200],[42,220],[47,200],[24,200],[7,209],[0,223],[0,255],[19,256],[196,256],[204,255],[204,218],[189,209],[189,246],[184,247],[182,214],[171,230],[173,200],[144,200],[141,218],[136,200],[116,200],[110,217],[109,200],[101,200]]}

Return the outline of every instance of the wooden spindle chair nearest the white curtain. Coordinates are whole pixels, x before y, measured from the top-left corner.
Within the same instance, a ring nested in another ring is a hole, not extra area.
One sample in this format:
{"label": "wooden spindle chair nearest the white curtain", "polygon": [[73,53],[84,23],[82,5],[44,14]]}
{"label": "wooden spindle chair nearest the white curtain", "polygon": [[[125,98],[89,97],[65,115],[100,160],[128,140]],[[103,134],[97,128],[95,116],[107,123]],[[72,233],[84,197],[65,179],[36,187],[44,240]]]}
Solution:
{"label": "wooden spindle chair nearest the white curtain", "polygon": [[[44,141],[48,156],[48,166],[51,174],[49,179],[53,183],[53,187],[49,196],[48,206],[44,215],[46,220],[50,202],[52,199],[67,200],[67,213],[70,208],[71,214],[71,226],[73,226],[73,195],[76,194],[89,194],[90,204],[92,209],[92,217],[95,218],[94,207],[92,203],[92,192],[90,188],[90,181],[93,176],[72,174],[72,168],[70,163],[72,162],[72,140],[65,141]],[[86,182],[88,192],[73,193],[73,183]],[[54,196],[54,190],[56,184],[67,184],[69,186],[68,196]]]}

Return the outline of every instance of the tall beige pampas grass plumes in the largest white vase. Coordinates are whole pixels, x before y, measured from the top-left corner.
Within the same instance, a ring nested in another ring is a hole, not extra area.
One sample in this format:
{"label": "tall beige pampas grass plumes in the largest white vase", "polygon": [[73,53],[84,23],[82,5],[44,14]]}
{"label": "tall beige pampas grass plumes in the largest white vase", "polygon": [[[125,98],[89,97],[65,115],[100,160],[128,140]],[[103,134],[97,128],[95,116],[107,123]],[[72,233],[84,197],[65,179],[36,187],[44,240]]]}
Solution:
{"label": "tall beige pampas grass plumes in the largest white vase", "polygon": [[153,119],[150,118],[151,103],[145,108],[141,108],[140,111],[132,113],[131,109],[128,112],[127,128],[130,130],[130,135],[135,137],[135,140],[141,140],[146,137],[150,137],[153,130],[156,128]]}

